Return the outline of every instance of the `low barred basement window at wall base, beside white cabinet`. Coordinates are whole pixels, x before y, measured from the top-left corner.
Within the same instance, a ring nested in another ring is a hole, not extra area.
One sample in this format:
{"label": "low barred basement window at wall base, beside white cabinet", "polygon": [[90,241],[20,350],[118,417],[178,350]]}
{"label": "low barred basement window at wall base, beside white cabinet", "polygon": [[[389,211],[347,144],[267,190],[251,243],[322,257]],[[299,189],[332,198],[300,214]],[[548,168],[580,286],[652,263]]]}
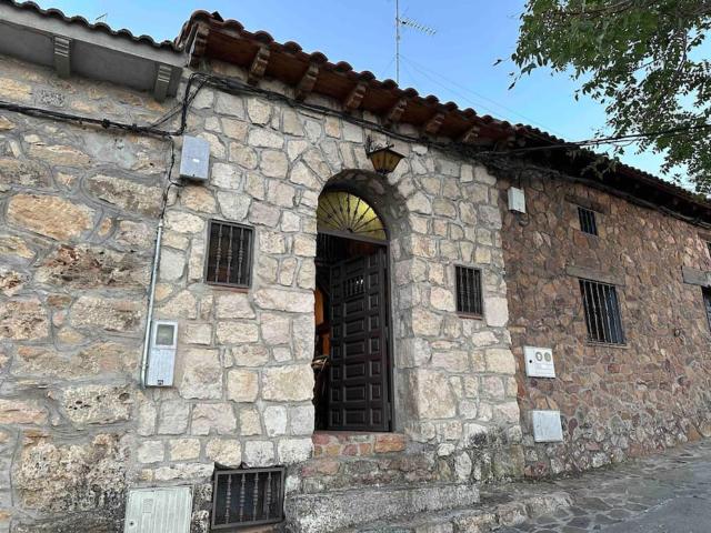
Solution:
{"label": "low barred basement window at wall base, beside white cabinet", "polygon": [[283,521],[284,469],[216,470],[212,530],[234,530]]}

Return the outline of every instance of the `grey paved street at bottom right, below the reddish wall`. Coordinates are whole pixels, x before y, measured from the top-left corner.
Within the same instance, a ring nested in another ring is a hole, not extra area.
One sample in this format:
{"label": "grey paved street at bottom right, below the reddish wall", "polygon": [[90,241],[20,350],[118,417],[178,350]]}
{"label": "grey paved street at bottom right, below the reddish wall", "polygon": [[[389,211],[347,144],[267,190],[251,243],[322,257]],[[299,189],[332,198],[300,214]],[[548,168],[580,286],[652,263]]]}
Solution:
{"label": "grey paved street at bottom right, below the reddish wall", "polygon": [[711,440],[541,484],[574,504],[497,533],[711,533]]}

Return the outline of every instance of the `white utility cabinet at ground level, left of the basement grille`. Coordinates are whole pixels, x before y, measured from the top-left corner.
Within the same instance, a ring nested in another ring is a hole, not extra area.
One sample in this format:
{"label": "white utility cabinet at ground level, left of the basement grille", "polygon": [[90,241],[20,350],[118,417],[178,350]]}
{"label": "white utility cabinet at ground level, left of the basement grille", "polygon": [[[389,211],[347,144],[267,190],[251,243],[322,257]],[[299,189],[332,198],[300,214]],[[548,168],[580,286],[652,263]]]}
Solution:
{"label": "white utility cabinet at ground level, left of the basement grille", "polygon": [[123,533],[189,533],[191,515],[189,486],[132,489],[126,504]]}

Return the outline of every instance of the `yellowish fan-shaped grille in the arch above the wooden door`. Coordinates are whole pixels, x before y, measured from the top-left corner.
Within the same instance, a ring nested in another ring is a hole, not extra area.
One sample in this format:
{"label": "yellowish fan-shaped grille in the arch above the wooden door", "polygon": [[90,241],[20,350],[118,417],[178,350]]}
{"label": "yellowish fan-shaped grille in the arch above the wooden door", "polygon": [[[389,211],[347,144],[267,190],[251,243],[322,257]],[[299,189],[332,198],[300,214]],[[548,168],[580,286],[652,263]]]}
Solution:
{"label": "yellowish fan-shaped grille in the arch above the wooden door", "polygon": [[318,230],[384,241],[388,239],[380,217],[362,198],[344,191],[329,191],[319,198]]}

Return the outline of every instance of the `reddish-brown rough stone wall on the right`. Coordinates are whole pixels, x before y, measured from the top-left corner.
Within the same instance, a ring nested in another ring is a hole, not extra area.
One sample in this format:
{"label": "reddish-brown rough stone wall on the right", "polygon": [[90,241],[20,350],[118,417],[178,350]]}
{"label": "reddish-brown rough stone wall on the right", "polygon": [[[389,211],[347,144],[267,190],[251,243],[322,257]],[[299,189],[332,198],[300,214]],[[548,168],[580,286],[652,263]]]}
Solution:
{"label": "reddish-brown rough stone wall on the right", "polygon": [[[587,470],[711,435],[711,334],[701,288],[682,281],[682,266],[711,270],[700,229],[534,167],[499,175],[527,474]],[[507,207],[519,177],[523,215]],[[580,231],[571,200],[601,210],[600,237]],[[625,346],[587,342],[570,266],[620,280]],[[553,349],[557,379],[525,376],[524,345]],[[561,411],[562,443],[533,443],[533,409]]]}

